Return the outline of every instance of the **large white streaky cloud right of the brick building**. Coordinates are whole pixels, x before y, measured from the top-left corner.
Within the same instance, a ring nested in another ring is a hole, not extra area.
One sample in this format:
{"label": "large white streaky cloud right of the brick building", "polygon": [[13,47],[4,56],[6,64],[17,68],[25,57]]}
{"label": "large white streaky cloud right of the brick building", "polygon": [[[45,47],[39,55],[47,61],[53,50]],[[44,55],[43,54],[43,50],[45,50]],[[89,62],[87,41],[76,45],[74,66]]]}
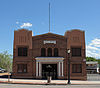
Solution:
{"label": "large white streaky cloud right of the brick building", "polygon": [[95,38],[86,45],[86,56],[100,58],[100,39]]}

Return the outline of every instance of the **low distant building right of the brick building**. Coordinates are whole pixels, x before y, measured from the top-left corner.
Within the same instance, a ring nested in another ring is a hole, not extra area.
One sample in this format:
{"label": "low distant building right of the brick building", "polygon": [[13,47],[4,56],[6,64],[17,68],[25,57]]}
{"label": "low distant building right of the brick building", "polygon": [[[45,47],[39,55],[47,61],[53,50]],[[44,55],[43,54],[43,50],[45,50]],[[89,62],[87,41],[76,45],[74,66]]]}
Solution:
{"label": "low distant building right of the brick building", "polygon": [[86,62],[87,74],[99,73],[99,64],[97,61],[87,61]]}

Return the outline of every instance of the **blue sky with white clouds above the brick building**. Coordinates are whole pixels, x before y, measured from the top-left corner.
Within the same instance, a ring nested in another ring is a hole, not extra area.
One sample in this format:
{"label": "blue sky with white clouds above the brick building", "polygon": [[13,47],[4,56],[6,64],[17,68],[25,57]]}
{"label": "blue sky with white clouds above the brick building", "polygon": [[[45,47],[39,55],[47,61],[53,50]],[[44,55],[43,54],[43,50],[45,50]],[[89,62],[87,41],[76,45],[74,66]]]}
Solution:
{"label": "blue sky with white clouds above the brick building", "polygon": [[14,30],[48,32],[49,2],[51,32],[85,30],[87,56],[100,58],[100,0],[0,0],[0,52],[13,54]]}

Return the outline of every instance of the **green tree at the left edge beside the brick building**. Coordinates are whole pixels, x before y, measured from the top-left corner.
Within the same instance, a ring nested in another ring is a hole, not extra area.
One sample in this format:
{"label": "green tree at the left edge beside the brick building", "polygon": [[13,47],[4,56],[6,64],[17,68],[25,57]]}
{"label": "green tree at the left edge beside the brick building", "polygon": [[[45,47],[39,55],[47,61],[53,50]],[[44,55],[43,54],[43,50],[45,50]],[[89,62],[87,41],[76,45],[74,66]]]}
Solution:
{"label": "green tree at the left edge beside the brick building", "polygon": [[7,51],[0,53],[0,67],[7,71],[12,71],[12,55]]}

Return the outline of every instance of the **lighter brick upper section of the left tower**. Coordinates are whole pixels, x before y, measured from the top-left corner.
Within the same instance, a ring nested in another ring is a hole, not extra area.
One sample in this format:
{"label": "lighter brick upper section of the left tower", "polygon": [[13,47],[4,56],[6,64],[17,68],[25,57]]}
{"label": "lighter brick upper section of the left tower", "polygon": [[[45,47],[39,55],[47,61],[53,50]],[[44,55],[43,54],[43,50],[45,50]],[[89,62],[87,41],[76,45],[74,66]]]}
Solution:
{"label": "lighter brick upper section of the left tower", "polygon": [[14,31],[14,49],[17,46],[28,46],[32,49],[32,31],[27,29],[18,29]]}

